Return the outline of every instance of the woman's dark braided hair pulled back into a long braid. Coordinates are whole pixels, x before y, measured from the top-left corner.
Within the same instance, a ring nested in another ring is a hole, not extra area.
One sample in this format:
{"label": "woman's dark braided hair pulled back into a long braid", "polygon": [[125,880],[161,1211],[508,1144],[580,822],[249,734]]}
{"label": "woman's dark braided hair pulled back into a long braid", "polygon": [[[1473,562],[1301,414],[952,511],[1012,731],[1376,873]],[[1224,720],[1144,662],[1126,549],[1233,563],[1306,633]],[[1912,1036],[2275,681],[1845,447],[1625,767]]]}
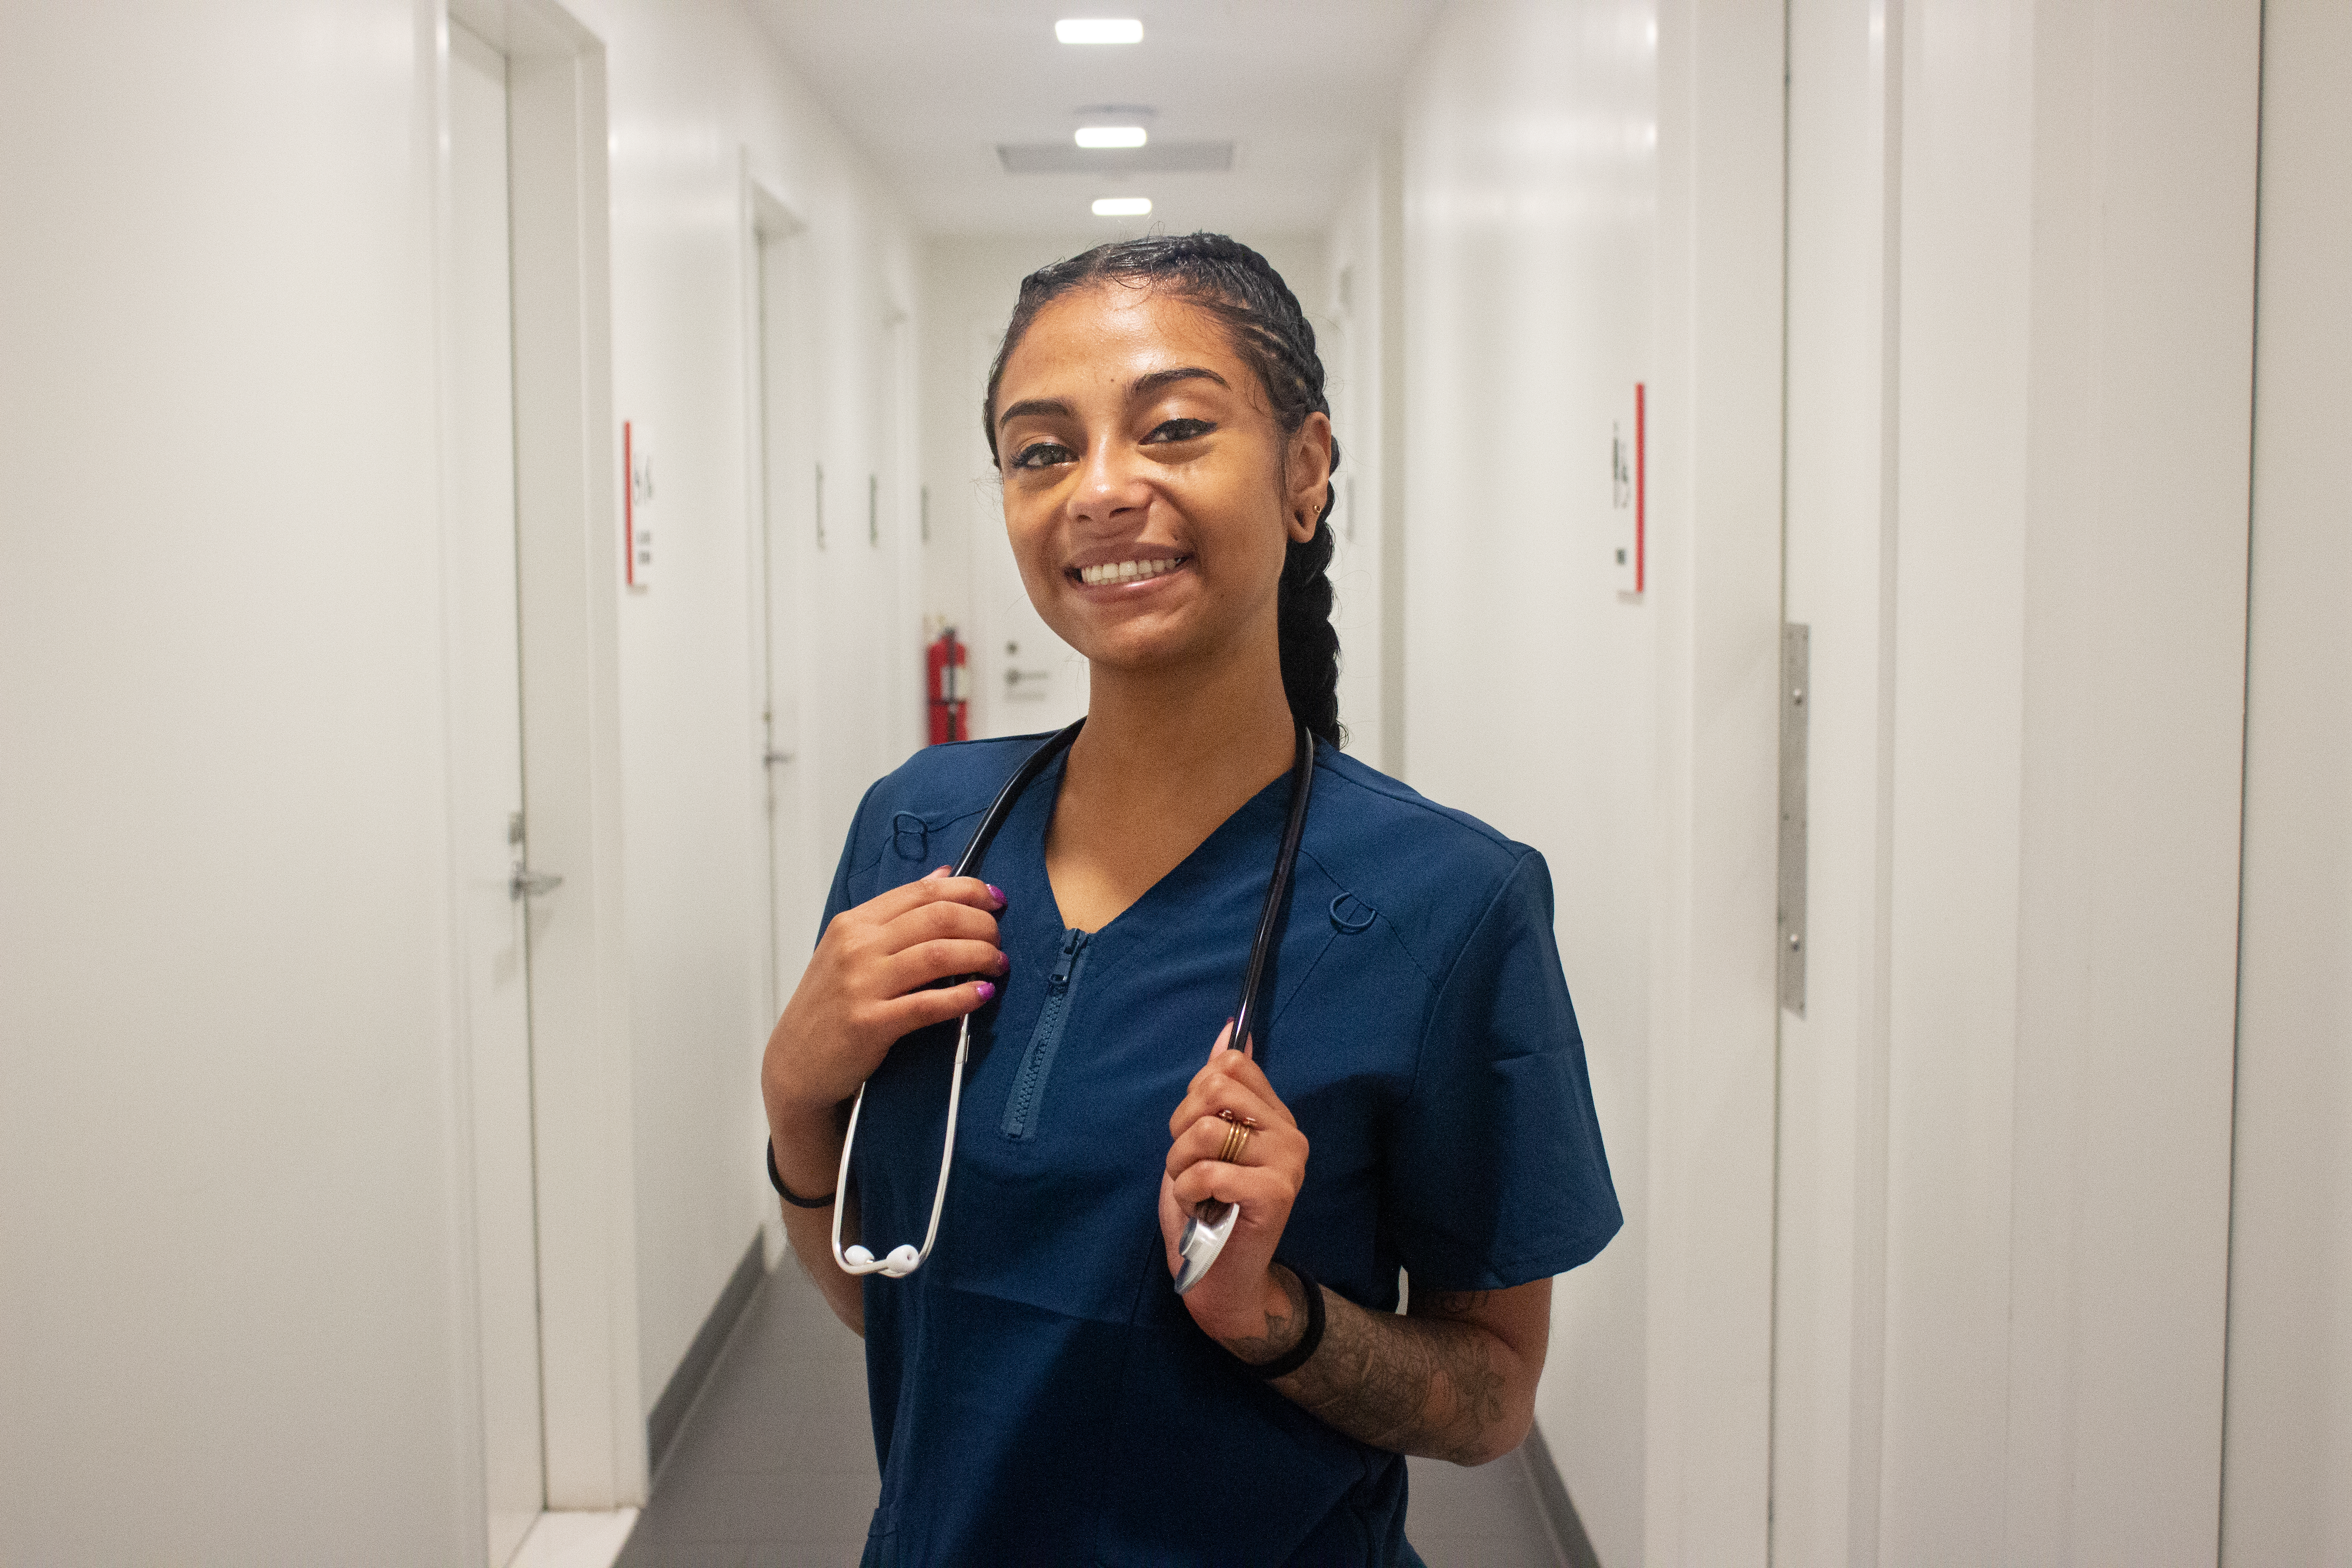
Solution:
{"label": "woman's dark braided hair pulled back into a long braid", "polygon": [[[1150,235],[1096,244],[1021,280],[1021,301],[1004,327],[1004,346],[988,369],[988,397],[981,402],[990,458],[1000,456],[995,407],[1004,362],[1040,310],[1073,289],[1105,280],[1171,289],[1223,322],[1232,350],[1265,388],[1284,437],[1296,435],[1308,414],[1331,414],[1322,360],[1315,355],[1315,327],[1265,256],[1228,235]],[[1338,473],[1338,442],[1331,442],[1331,473]],[[1282,557],[1275,623],[1282,644],[1282,693],[1291,703],[1291,717],[1315,738],[1338,748],[1348,731],[1338,722],[1338,630],[1331,625],[1334,496],[1336,489],[1324,482],[1324,505],[1315,517],[1312,538],[1305,543],[1294,538]]]}

